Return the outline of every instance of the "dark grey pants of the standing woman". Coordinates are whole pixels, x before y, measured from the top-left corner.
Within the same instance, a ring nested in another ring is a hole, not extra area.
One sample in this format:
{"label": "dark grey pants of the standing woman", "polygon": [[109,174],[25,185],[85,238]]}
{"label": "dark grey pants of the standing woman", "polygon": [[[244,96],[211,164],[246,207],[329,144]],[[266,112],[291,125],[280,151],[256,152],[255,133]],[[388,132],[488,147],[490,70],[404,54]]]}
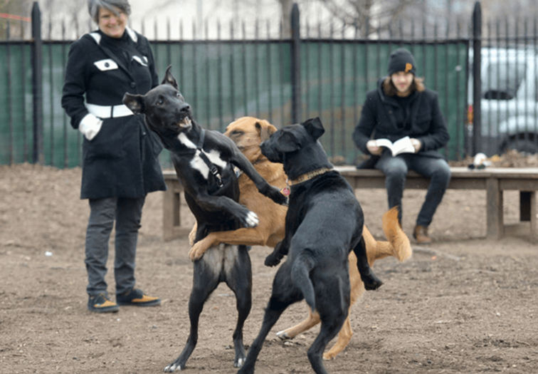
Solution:
{"label": "dark grey pants of the standing woman", "polygon": [[138,230],[145,197],[138,199],[90,199],[90,219],[86,231],[88,295],[107,294],[108,241],[116,222],[114,277],[116,294],[135,286],[135,256]]}

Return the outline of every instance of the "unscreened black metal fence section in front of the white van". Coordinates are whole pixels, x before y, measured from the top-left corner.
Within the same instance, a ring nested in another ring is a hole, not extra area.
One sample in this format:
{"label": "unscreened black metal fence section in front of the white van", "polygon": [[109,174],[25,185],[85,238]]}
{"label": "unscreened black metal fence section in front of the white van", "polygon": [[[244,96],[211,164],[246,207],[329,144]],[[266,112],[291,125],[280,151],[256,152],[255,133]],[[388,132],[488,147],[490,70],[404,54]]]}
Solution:
{"label": "unscreened black metal fence section in front of the white van", "polygon": [[468,88],[473,153],[538,153],[537,17],[487,22],[475,27],[474,40]]}

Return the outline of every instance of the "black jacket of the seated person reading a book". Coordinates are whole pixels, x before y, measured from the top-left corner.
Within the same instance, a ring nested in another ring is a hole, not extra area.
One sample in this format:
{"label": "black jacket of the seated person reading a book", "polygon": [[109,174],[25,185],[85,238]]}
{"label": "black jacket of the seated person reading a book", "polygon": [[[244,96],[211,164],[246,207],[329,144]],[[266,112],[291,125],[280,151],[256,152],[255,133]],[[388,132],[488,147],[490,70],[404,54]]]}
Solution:
{"label": "black jacket of the seated person reading a book", "polygon": [[[353,132],[355,145],[370,155],[366,148],[368,140],[386,138],[395,142],[408,136],[421,141],[420,155],[442,158],[443,155],[437,150],[448,143],[450,135],[439,108],[438,93],[428,88],[423,92],[413,92],[408,103],[410,125],[399,127],[395,113],[402,109],[394,98],[383,92],[384,79],[379,79],[376,90],[366,93],[361,118]],[[363,167],[373,167],[376,158],[371,157]]]}

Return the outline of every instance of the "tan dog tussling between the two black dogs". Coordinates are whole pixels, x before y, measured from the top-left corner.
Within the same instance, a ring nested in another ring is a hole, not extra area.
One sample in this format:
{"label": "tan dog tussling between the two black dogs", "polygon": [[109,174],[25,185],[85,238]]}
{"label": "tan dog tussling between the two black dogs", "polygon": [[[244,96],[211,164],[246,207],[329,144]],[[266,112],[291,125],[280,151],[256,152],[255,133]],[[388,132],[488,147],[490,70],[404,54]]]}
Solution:
{"label": "tan dog tussling between the two black dogs", "polygon": [[[286,186],[287,179],[283,165],[270,162],[260,151],[260,143],[267,140],[276,130],[277,128],[266,120],[243,117],[228,125],[225,135],[231,137],[241,152],[246,155],[255,169],[270,185],[283,188]],[[220,243],[274,247],[284,238],[287,208],[275,204],[271,199],[260,194],[246,175],[239,177],[239,189],[241,190],[239,202],[252,212],[255,212],[255,214],[258,214],[260,219],[258,226],[228,232],[212,232],[193,245],[194,234],[196,234],[196,227],[194,227],[191,234],[189,234],[189,240],[192,245],[191,251],[189,251],[191,260],[199,259],[207,249]],[[386,256],[394,256],[399,261],[408,259],[411,256],[411,244],[398,223],[398,210],[396,208],[384,214],[383,231],[389,241],[376,241],[366,229],[366,226],[364,227],[362,235],[366,241],[366,254],[370,266],[374,264],[374,261]],[[353,251],[349,254],[349,280],[352,289],[351,308],[364,293],[364,284],[357,269],[357,257]],[[309,313],[305,321],[285,331],[280,331],[277,335],[281,339],[292,339],[297,334],[307,331],[320,323],[317,313],[310,312],[310,309]],[[348,315],[344,326],[339,332],[337,343],[323,355],[323,358],[330,360],[342,352],[351,340],[352,335],[353,331]]]}

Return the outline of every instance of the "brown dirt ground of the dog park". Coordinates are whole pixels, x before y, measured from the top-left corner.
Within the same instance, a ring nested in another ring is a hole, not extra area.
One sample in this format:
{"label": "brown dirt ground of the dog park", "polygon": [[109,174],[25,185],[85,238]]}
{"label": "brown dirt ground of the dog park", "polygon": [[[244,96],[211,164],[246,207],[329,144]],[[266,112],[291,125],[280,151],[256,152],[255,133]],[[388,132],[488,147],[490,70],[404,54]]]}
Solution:
{"label": "brown dirt ground of the dog park", "polygon": [[[90,313],[83,249],[89,209],[79,191],[78,168],[0,166],[0,373],[160,373],[189,333],[187,239],[162,241],[162,193],[150,194],[139,234],[137,282],[162,298],[162,306]],[[423,197],[423,191],[405,193],[408,235]],[[384,190],[361,190],[357,198],[367,226],[382,237]],[[518,204],[517,194],[505,194],[505,222],[517,222]],[[354,306],[354,336],[325,363],[329,373],[538,373],[538,246],[525,235],[484,239],[481,191],[449,190],[431,234],[435,242],[413,245],[408,261],[376,262],[385,284]],[[275,274],[263,266],[269,253],[264,247],[250,251],[254,286],[247,345],[258,334]],[[112,261],[113,254],[109,269]],[[113,295],[112,271],[107,281]],[[256,373],[312,373],[307,348],[318,328],[288,343],[275,336],[306,313],[304,303],[285,312],[265,342]],[[199,343],[184,372],[236,373],[235,323],[235,298],[221,285],[206,303]]]}

